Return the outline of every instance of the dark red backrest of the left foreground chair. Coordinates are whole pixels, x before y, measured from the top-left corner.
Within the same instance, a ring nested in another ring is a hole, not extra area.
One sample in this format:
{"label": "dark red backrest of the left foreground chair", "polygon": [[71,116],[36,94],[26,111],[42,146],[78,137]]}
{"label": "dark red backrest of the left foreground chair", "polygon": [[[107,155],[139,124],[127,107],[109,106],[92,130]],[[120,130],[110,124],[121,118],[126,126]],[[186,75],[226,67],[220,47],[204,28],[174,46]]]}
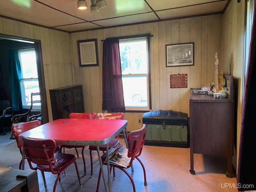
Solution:
{"label": "dark red backrest of the left foreground chair", "polygon": [[31,162],[40,165],[51,165],[56,162],[54,158],[56,143],[53,139],[32,139],[25,136],[21,138],[29,165]]}

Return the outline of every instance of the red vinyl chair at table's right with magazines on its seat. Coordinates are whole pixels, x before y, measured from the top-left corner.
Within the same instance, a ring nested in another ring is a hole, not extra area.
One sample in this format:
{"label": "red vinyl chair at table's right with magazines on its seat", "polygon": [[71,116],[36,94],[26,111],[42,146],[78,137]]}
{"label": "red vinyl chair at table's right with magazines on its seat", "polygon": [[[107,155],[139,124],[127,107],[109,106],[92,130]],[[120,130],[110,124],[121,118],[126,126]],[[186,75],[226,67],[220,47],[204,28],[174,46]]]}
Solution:
{"label": "red vinyl chair at table's right with magazines on its seat", "polygon": [[[144,167],[142,161],[138,157],[140,156],[140,154],[142,152],[142,148],[144,146],[145,138],[146,138],[146,124],[142,124],[142,128],[140,130],[131,131],[127,136],[127,141],[128,141],[128,155],[127,156],[131,158],[130,163],[128,164],[127,168],[130,168],[132,166],[132,162],[135,158],[140,162],[140,164],[142,166],[142,169],[143,169],[143,172],[144,172],[144,186],[147,185],[146,170],[145,170],[145,167]],[[102,155],[101,159],[102,159],[102,163],[104,165],[106,165],[106,163],[104,163],[105,158],[106,157],[104,155]],[[116,165],[116,164],[110,164],[110,170],[111,170],[112,167],[113,168],[116,167],[116,168],[122,170],[130,178],[130,181],[132,182],[133,191],[136,192],[135,184],[134,184],[134,181],[132,179],[132,176],[125,170],[126,168],[124,168],[122,166],[119,166],[119,165]],[[101,169],[100,169],[100,172],[99,172],[96,192],[98,192],[98,190],[99,190],[100,176],[101,176]]]}

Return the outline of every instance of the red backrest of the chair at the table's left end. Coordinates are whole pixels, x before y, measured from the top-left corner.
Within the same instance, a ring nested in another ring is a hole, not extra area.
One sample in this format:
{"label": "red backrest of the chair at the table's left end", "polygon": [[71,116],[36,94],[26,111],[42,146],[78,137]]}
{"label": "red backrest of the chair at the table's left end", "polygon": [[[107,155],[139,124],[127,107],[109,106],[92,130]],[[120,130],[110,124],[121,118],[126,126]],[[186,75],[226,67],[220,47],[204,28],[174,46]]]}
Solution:
{"label": "red backrest of the chair at the table's left end", "polygon": [[22,154],[22,141],[19,139],[19,134],[28,131],[32,128],[40,126],[42,123],[40,120],[34,120],[30,122],[19,123],[12,126],[12,134],[16,139],[17,146],[20,149],[20,153]]}

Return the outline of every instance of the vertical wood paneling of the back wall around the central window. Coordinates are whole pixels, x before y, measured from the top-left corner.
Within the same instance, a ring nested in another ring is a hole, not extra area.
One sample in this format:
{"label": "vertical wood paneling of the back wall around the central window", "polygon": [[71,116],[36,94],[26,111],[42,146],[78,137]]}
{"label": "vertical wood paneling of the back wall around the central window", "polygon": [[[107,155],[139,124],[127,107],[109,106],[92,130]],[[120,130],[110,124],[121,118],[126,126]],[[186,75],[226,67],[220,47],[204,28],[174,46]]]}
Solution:
{"label": "vertical wood paneling of the back wall around the central window", "polygon": [[[175,110],[189,115],[190,88],[214,82],[215,53],[220,46],[220,14],[90,30],[71,34],[74,79],[84,88],[85,111],[102,112],[102,46],[108,37],[150,33],[152,110]],[[97,38],[100,66],[79,67],[77,40]],[[166,45],[194,42],[194,66],[166,67]],[[188,74],[188,88],[170,88],[171,74]],[[141,127],[143,113],[126,113],[128,131]]]}

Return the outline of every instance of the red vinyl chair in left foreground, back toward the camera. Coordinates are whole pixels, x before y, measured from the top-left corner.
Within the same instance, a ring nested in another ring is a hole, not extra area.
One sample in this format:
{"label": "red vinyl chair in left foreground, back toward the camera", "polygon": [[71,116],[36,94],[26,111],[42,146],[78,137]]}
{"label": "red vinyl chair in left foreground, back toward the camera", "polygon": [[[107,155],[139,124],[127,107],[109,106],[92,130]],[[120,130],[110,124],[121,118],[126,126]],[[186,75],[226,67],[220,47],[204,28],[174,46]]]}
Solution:
{"label": "red vinyl chair in left foreground, back toward the camera", "polygon": [[[55,192],[58,180],[60,181],[60,175],[72,163],[75,164],[78,181],[80,187],[82,187],[76,164],[76,156],[72,154],[55,153],[56,143],[53,139],[31,139],[25,136],[21,136],[21,138],[28,164],[32,170],[40,170],[42,172],[45,189],[47,189],[47,186],[44,172],[58,174],[53,187],[53,192]],[[36,164],[36,166],[32,163]]]}

